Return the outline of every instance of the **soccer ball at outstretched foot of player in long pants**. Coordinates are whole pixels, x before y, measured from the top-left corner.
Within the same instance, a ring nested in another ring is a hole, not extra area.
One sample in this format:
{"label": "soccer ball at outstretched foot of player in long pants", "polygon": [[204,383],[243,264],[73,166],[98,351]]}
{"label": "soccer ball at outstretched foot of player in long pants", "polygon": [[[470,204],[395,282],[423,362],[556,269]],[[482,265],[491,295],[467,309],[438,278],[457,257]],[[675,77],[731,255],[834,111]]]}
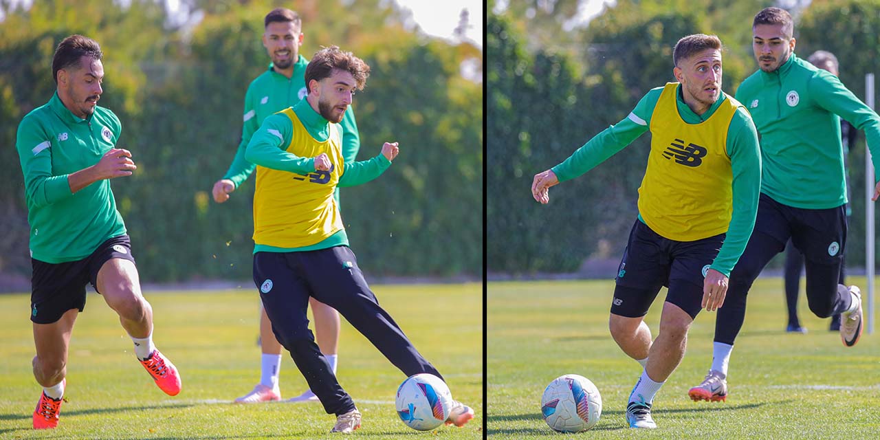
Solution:
{"label": "soccer ball at outstretched foot of player in long pants", "polygon": [[429,431],[449,417],[452,394],[443,380],[433,374],[410,376],[397,389],[397,414],[412,429]]}

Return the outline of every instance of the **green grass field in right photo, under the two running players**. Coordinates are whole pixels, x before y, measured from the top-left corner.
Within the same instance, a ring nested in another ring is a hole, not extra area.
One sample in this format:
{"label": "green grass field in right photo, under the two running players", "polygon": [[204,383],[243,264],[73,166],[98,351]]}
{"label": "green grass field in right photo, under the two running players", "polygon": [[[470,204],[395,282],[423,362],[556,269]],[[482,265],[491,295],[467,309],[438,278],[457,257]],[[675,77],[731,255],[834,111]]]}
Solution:
{"label": "green grass field in right photo, under the two running players", "polygon": [[[847,281],[864,285],[864,278]],[[489,283],[489,438],[880,438],[880,338],[862,334],[845,348],[828,320],[810,313],[803,283],[798,307],[809,334],[785,333],[779,278],[760,279],[752,289],[727,401],[687,397],[712,358],[715,313],[700,312],[684,361],[654,401],[658,429],[634,432],[624,413],[642,367],[608,332],[613,288],[613,281]],[[648,314],[654,336],[664,297],[665,290]],[[541,418],[544,387],[565,373],[590,378],[602,394],[602,416],[590,431],[560,435]]]}

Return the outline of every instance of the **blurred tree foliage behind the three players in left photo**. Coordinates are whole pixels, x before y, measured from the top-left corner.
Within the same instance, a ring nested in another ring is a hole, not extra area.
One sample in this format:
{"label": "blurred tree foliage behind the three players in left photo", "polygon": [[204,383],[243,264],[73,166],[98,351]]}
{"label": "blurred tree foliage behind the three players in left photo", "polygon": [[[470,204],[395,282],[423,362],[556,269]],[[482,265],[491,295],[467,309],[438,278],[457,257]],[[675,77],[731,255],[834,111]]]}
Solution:
{"label": "blurred tree foliage behind the three players in left photo", "polygon": [[138,165],[113,187],[143,280],[249,279],[253,178],[222,205],[210,189],[238,146],[247,85],[268,67],[263,18],[283,6],[303,18],[306,58],[338,45],[372,68],[354,104],[358,159],[400,142],[385,175],[341,193],[361,266],[371,275],[480,275],[482,84],[460,69],[481,66],[480,48],[414,33],[406,13],[381,0],[184,0],[201,16],[194,26],[173,25],[180,20],[164,2],[122,3],[40,0],[23,9],[0,0],[0,184],[11,189],[0,196],[0,273],[30,272],[18,122],[55,91],[55,46],[83,33],[104,51],[101,105],[119,115],[120,145]]}

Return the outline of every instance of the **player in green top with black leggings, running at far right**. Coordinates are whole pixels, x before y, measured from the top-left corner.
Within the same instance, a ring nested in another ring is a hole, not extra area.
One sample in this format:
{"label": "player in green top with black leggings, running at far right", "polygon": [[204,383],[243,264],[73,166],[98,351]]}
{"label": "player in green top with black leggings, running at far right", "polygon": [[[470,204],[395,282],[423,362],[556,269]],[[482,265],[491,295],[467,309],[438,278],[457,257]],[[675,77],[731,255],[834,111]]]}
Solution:
{"label": "player in green top with black leggings, running at far right", "polygon": [[[745,319],[745,300],[766,263],[788,238],[806,259],[807,303],[819,318],[841,314],[840,339],[852,347],[862,335],[862,296],[838,284],[847,239],[847,184],[840,118],[864,129],[880,160],[880,118],[831,73],[798,58],[787,11],[766,8],[752,22],[759,70],[737,90],[760,133],[763,162],[755,230],[730,274],[730,295],[715,320],[712,366],[693,400],[726,400],[733,342]],[[880,194],[880,185],[873,199]]]}

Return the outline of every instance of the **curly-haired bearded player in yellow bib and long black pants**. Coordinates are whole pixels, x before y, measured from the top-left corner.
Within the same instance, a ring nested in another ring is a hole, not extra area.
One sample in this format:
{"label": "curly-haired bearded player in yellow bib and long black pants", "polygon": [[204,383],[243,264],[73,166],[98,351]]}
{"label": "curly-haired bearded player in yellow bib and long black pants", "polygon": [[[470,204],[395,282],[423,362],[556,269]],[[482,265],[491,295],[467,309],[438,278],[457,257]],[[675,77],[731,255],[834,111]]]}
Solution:
{"label": "curly-haired bearded player in yellow bib and long black pants", "polygon": [[[331,432],[361,426],[361,413],[327,363],[306,319],[309,298],[338,310],[407,376],[442,378],[383,310],[348,248],[333,194],[336,187],[378,177],[397,156],[385,143],[375,158],[345,163],[337,123],[362,90],[370,67],[333,46],[319,50],[305,68],[306,98],[273,114],[247,144],[246,160],[257,165],[253,196],[253,282],[275,337],[290,351],[327,414]],[[463,426],[473,409],[454,402],[447,423]]]}

